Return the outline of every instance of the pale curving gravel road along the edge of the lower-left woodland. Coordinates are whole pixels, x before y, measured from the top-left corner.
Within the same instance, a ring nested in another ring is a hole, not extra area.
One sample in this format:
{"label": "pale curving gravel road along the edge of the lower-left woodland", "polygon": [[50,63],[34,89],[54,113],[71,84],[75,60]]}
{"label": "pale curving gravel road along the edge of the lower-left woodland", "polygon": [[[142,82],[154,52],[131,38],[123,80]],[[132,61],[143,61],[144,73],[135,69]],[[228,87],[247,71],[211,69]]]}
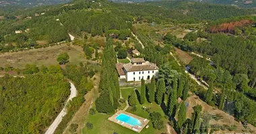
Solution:
{"label": "pale curving gravel road along the edge of the lower-left woodland", "polygon": [[[67,99],[67,103],[69,102],[69,100],[72,100],[72,98],[77,96],[77,90],[75,88],[75,85],[71,82],[69,83],[70,83],[70,96]],[[65,107],[62,109],[61,113],[59,113],[59,115],[56,117],[55,121],[53,121],[49,129],[45,132],[45,134],[53,134],[54,131],[57,129],[59,123],[61,123],[61,120],[67,114],[67,109],[66,109],[67,103],[65,104]]]}

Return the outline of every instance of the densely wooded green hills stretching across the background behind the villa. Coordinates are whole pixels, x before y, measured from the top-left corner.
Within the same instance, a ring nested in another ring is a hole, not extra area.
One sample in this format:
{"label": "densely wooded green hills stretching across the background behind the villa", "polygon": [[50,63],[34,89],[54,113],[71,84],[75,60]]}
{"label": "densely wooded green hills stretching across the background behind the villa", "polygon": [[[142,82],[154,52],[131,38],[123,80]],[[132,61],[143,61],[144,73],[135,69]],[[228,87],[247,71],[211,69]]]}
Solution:
{"label": "densely wooded green hills stretching across the background behind the villa", "polygon": [[[0,19],[0,51],[40,48],[42,46],[38,46],[38,40],[50,44],[69,41],[68,33],[75,36],[82,36],[86,32],[92,36],[118,37],[125,30],[131,29],[133,22],[198,23],[251,15],[253,11],[184,1],[148,2],[127,6],[123,3],[76,0],[68,5],[32,9],[4,8],[0,12],[3,15],[3,19]],[[22,34],[15,34],[16,30],[22,30]]]}

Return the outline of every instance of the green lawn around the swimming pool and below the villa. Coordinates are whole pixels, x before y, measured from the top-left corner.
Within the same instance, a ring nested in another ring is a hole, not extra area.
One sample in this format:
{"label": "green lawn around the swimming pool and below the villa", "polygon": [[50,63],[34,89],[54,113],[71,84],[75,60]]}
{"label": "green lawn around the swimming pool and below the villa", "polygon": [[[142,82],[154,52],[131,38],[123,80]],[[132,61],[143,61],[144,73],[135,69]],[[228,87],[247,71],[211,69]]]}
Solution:
{"label": "green lawn around the swimming pool and below the villa", "polygon": [[[137,90],[140,90],[140,87],[136,87]],[[131,90],[134,90],[134,88],[121,88],[122,96],[123,98],[127,99],[129,94],[131,93]],[[132,112],[131,108],[127,109],[127,112],[133,113],[134,115],[138,115],[143,118],[149,119],[149,114],[146,111],[143,111],[141,109],[142,107],[151,107],[151,111],[156,111],[161,113],[162,119],[164,120],[165,123],[167,123],[167,119],[164,119],[164,112],[162,111],[161,107],[157,105],[156,103],[150,104],[146,103],[145,105],[137,105],[137,111]],[[126,127],[122,127],[121,125],[118,125],[117,123],[113,123],[112,121],[108,121],[108,117],[111,117],[112,115],[106,115],[102,113],[96,113],[95,115],[88,115],[88,119],[86,121],[90,122],[94,125],[93,129],[89,130],[86,127],[83,129],[83,133],[100,133],[100,134],[112,134],[114,132],[119,133],[119,134],[137,134],[137,132],[132,131],[130,129],[127,129]],[[166,128],[162,129],[161,131],[154,129],[152,127],[152,122],[148,123],[150,126],[148,129],[144,128],[140,134],[160,134],[166,132]]]}

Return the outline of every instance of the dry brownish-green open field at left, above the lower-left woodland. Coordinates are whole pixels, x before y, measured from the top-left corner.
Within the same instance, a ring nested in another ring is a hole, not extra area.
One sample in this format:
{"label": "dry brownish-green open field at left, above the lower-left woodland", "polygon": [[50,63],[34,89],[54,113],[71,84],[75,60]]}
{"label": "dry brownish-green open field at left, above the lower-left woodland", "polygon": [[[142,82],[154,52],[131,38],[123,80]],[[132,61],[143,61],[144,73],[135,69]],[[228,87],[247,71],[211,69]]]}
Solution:
{"label": "dry brownish-green open field at left, above the lower-left woodland", "polygon": [[86,61],[86,58],[82,54],[82,48],[61,44],[48,48],[0,54],[0,66],[4,67],[8,65],[13,66],[13,68],[24,68],[26,64],[36,64],[37,66],[55,65],[58,64],[57,56],[61,52],[67,52],[69,54],[69,62],[72,64],[79,64],[79,62]]}

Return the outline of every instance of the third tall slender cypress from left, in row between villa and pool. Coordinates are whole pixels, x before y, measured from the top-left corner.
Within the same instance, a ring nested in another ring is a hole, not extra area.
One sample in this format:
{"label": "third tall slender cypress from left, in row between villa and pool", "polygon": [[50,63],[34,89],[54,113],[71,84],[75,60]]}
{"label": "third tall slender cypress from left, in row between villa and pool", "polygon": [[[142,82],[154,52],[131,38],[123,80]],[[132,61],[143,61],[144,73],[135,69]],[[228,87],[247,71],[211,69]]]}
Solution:
{"label": "third tall slender cypress from left, in row between villa and pool", "polygon": [[164,95],[164,91],[165,91],[165,82],[164,82],[164,79],[161,78],[160,80],[158,80],[158,86],[156,90],[156,103],[158,103],[158,105],[162,103],[162,97]]}

